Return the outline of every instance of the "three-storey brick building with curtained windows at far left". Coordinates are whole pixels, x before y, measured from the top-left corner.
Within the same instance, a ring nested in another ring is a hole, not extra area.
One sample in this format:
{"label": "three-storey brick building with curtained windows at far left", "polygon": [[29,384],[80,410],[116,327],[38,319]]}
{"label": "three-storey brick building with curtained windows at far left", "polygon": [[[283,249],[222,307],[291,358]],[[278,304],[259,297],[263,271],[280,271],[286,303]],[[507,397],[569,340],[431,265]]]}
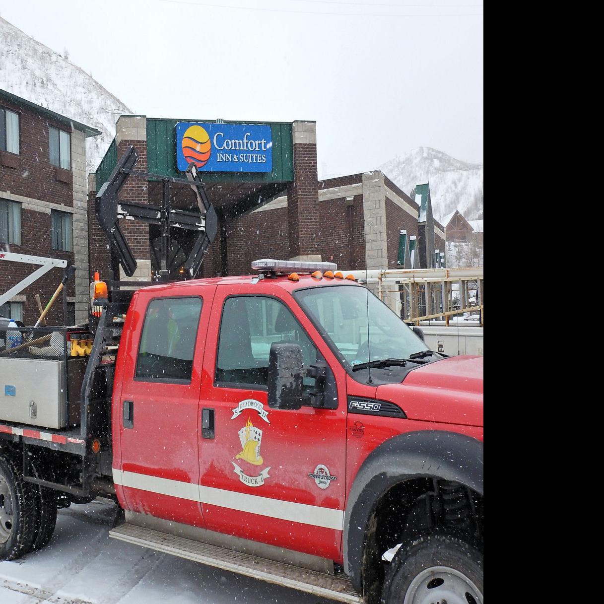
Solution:
{"label": "three-storey brick building with curtained windows at far left", "polygon": [[[0,248],[76,265],[65,305],[59,298],[47,316],[50,325],[88,319],[86,137],[98,134],[0,90]],[[36,268],[3,262],[0,292]],[[40,294],[47,304],[62,277],[61,269],[52,269],[0,307],[0,314],[33,324],[39,316],[34,296]]]}

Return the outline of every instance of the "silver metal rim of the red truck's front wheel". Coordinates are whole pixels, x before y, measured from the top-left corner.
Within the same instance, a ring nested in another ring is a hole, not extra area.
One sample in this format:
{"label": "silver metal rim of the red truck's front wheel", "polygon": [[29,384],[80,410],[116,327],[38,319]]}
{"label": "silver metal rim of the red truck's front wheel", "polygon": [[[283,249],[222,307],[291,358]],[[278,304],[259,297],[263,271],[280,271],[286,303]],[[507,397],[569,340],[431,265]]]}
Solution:
{"label": "silver metal rim of the red truck's front wheel", "polygon": [[430,567],[413,579],[404,604],[483,604],[483,594],[455,568]]}

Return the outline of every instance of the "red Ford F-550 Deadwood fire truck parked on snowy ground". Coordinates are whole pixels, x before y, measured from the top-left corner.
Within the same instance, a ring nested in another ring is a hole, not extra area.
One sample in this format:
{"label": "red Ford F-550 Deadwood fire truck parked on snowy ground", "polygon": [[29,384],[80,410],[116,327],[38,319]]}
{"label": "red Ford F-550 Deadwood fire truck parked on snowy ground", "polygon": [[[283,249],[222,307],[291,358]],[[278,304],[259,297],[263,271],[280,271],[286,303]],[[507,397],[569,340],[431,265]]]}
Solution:
{"label": "red Ford F-550 Deadwood fire truck parked on snowy ground", "polygon": [[483,602],[482,358],[331,263],[253,266],[0,328],[0,559],[103,496],[112,537],[316,596]]}

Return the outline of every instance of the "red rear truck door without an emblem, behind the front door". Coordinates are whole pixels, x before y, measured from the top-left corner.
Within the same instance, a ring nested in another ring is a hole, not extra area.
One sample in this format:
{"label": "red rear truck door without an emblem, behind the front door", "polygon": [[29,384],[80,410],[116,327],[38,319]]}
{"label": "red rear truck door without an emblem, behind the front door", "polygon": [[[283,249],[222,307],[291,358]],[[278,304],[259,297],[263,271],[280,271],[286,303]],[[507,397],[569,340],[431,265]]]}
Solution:
{"label": "red rear truck door without an emblem, behind the front door", "polygon": [[198,408],[214,290],[141,291],[130,307],[112,419],[114,442],[119,438],[114,481],[124,509],[204,526]]}

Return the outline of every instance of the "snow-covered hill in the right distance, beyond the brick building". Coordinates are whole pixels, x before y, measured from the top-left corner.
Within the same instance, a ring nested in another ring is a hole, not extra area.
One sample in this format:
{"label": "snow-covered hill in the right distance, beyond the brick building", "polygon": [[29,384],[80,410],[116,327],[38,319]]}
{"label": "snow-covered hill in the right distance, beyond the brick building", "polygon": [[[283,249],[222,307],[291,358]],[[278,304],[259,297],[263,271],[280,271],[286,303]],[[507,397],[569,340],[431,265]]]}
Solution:
{"label": "snow-covered hill in the right distance, beyond the brick building", "polygon": [[437,220],[459,210],[467,220],[484,218],[484,166],[468,164],[431,147],[419,147],[381,166],[405,193],[430,183],[432,212]]}

